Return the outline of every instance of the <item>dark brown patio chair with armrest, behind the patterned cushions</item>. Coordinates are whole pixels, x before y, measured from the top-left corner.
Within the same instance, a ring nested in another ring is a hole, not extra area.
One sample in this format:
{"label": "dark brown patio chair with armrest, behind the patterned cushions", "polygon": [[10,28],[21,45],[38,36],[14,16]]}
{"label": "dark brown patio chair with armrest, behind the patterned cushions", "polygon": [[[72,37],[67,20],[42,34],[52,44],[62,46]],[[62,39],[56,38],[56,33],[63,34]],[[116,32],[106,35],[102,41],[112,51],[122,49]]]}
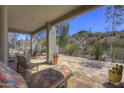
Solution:
{"label": "dark brown patio chair with armrest, behind the patterned cushions", "polygon": [[17,72],[20,73],[22,76],[25,76],[27,72],[30,72],[33,68],[37,68],[38,65],[30,63],[25,56],[16,55],[17,57]]}

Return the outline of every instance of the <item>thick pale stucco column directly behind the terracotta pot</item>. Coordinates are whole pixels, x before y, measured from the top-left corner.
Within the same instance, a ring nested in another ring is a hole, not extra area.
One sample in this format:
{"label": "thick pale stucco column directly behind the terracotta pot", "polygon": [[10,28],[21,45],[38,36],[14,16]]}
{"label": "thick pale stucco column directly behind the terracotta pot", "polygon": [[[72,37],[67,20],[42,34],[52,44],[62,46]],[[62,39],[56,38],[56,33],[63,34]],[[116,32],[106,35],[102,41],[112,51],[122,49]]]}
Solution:
{"label": "thick pale stucco column directly behind the terracotta pot", "polygon": [[53,55],[58,54],[56,45],[56,29],[54,26],[47,24],[47,62],[52,63]]}

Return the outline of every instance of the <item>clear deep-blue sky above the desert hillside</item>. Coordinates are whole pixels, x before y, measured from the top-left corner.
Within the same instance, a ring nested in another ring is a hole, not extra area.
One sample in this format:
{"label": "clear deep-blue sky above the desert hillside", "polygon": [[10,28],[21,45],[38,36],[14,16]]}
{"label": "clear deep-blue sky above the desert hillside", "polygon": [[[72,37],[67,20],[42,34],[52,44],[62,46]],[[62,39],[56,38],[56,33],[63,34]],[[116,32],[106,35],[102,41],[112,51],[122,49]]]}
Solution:
{"label": "clear deep-blue sky above the desert hillside", "polygon": [[[89,13],[82,14],[78,17],[69,21],[69,34],[72,35],[81,29],[88,30],[91,32],[105,32],[107,26],[105,18],[105,7],[100,7],[96,10],[90,11]],[[120,26],[119,29],[123,29],[124,25]]]}

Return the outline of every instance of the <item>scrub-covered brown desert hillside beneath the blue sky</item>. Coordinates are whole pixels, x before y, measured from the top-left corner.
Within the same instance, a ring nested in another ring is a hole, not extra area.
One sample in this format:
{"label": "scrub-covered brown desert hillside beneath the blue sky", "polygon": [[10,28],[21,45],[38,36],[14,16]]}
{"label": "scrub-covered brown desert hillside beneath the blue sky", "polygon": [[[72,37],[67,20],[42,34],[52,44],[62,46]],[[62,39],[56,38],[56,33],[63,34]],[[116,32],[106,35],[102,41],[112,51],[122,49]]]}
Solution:
{"label": "scrub-covered brown desert hillside beneath the blue sky", "polygon": [[[113,36],[112,36],[113,34]],[[71,55],[77,57],[86,57],[94,59],[93,49],[94,44],[98,42],[103,50],[101,55],[106,57],[106,60],[110,60],[110,51],[112,45],[112,58],[115,61],[122,61],[124,59],[124,31],[119,32],[95,32],[82,30],[68,36],[68,44],[76,45],[75,51]],[[67,50],[67,49],[65,49]],[[70,50],[69,50],[70,51]],[[68,52],[64,54],[70,55]]]}

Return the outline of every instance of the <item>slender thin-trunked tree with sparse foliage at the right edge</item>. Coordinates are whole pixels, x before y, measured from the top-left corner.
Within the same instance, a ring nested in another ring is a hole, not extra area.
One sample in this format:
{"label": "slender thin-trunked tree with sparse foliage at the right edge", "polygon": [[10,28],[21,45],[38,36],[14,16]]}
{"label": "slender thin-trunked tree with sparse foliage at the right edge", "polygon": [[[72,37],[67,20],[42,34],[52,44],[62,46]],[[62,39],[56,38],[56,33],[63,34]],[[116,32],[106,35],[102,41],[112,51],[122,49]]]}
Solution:
{"label": "slender thin-trunked tree with sparse foliage at the right edge", "polygon": [[[112,37],[114,36],[114,32],[117,31],[117,27],[123,24],[124,22],[124,6],[123,5],[115,5],[115,6],[107,6],[106,7],[106,22],[109,23],[106,29],[112,31]],[[112,39],[113,41],[113,39]],[[112,42],[111,42],[111,59],[112,59]]]}

